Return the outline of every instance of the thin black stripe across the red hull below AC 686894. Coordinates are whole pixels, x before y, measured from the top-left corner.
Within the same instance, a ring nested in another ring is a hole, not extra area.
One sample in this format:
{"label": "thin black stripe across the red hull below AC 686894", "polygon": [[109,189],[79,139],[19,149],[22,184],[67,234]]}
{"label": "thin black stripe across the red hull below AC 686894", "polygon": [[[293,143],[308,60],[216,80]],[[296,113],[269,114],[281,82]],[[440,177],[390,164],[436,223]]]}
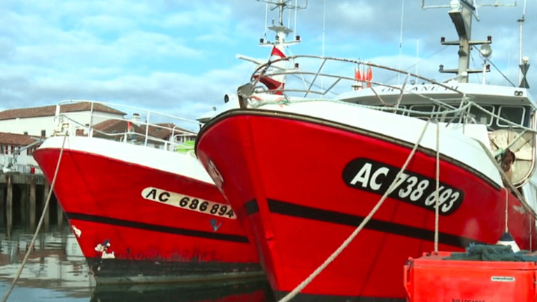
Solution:
{"label": "thin black stripe across the red hull below AC 686894", "polygon": [[143,229],[145,231],[157,231],[160,233],[170,233],[173,235],[191,236],[207,238],[214,240],[224,240],[236,243],[250,243],[246,236],[230,235],[224,233],[211,233],[206,231],[196,231],[192,229],[180,229],[176,227],[165,227],[157,224],[147,224],[144,222],[133,222],[129,220],[120,220],[117,218],[103,217],[97,215],[87,215],[81,213],[65,213],[69,220],[83,220],[87,222],[97,222],[102,224],[111,224],[118,227],[130,227],[133,229]]}

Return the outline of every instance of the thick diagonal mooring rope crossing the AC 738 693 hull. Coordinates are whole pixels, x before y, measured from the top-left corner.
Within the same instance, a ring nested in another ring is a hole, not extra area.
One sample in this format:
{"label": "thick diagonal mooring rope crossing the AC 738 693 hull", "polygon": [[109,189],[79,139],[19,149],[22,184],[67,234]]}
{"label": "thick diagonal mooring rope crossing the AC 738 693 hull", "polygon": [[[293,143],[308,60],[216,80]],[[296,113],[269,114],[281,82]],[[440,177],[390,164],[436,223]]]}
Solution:
{"label": "thick diagonal mooring rope crossing the AC 738 693 hull", "polygon": [[334,261],[339,256],[339,254],[341,254],[341,252],[343,252],[343,250],[345,250],[346,247],[348,247],[348,245],[352,242],[352,240],[355,239],[355,237],[358,235],[358,233],[361,231],[361,229],[364,228],[364,226],[369,222],[369,220],[371,220],[371,217],[373,217],[373,215],[375,215],[375,213],[380,208],[380,206],[382,206],[382,203],[386,200],[387,196],[390,193],[392,193],[392,189],[394,189],[394,185],[395,185],[396,181],[401,177],[401,174],[403,174],[403,172],[406,170],[406,167],[410,163],[410,159],[412,159],[414,157],[414,154],[415,154],[415,152],[417,150],[417,147],[420,145],[420,142],[422,141],[422,138],[423,138],[423,136],[425,134],[425,131],[427,130],[427,127],[429,126],[430,122],[431,122],[431,120],[427,120],[427,123],[425,124],[425,127],[423,127],[423,131],[420,134],[420,138],[417,139],[417,142],[415,143],[412,151],[410,151],[410,154],[408,154],[408,157],[407,157],[407,159],[405,161],[405,164],[403,164],[403,167],[401,168],[399,173],[397,173],[397,175],[395,176],[394,181],[392,182],[391,185],[389,185],[388,189],[386,190],[384,195],[382,195],[382,198],[378,201],[378,203],[375,205],[373,210],[371,210],[371,212],[369,212],[367,217],[364,218],[364,220],[355,229],[355,231],[353,231],[350,234],[350,236],[338,247],[338,249],[336,251],[334,251],[334,253],[332,253],[330,255],[330,257],[328,257],[317,269],[315,269],[315,271],[313,271],[313,273],[311,273],[308,276],[308,278],[306,278],[306,280],[303,280],[301,282],[301,284],[299,284],[297,287],[295,287],[295,289],[292,290],[292,292],[287,294],[287,296],[283,297],[278,302],[288,302],[291,299],[293,299],[294,296],[299,294],[299,292],[301,292],[302,289],[304,289],[306,286],[308,286],[310,284],[310,282],[312,282],[313,279],[315,279],[317,277],[317,275],[319,275],[322,271],[324,271],[324,268],[327,268],[327,266],[329,266],[329,264],[331,264],[331,262]]}

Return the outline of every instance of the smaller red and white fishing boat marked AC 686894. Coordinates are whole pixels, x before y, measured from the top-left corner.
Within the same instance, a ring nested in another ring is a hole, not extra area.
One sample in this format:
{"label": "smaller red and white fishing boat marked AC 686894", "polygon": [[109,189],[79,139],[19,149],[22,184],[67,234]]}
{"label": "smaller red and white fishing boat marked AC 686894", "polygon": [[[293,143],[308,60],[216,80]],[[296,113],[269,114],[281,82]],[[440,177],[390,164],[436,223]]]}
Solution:
{"label": "smaller red and white fishing boat marked AC 686894", "polygon": [[[99,106],[107,104],[92,102]],[[103,117],[91,113],[90,121]],[[180,152],[188,151],[184,141],[193,132],[149,120],[106,117],[85,127],[80,113],[57,118],[64,131],[34,158],[55,180],[55,196],[97,282],[262,275],[234,211],[192,152]]]}

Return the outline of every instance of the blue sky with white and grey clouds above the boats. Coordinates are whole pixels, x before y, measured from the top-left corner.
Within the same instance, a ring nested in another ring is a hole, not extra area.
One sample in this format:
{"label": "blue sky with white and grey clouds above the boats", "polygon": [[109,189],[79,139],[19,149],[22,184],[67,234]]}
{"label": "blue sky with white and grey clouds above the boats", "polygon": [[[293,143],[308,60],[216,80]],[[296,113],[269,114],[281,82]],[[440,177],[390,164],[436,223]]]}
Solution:
{"label": "blue sky with white and grey clouds above the boats", "polygon": [[[517,2],[515,8],[480,8],[473,31],[474,39],[492,36],[492,61],[515,84],[524,0]],[[528,2],[523,50],[532,62],[537,1]],[[326,15],[325,55],[410,71],[420,62],[420,74],[441,80],[447,76],[437,73],[438,65],[454,68],[457,48],[440,45],[440,37],[454,40],[456,32],[447,8],[420,6],[421,0],[404,6],[402,0],[309,0],[297,13],[303,43],[292,52],[322,54]],[[253,64],[236,54],[268,58],[269,50],[257,45],[265,33],[265,8],[255,0],[0,0],[0,110],[92,99],[199,117],[248,80]],[[269,22],[272,17],[269,12]],[[476,52],[473,64],[480,68]],[[529,73],[534,93],[536,79],[537,67]],[[489,81],[508,84],[498,72]]]}

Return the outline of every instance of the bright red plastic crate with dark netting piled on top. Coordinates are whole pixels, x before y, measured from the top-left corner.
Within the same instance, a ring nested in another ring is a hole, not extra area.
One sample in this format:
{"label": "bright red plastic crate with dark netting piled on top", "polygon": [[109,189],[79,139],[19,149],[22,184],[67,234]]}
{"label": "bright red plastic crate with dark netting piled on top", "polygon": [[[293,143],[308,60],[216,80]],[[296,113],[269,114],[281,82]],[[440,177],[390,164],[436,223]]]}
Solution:
{"label": "bright red plastic crate with dark netting piled on top", "polygon": [[451,252],[408,259],[404,285],[411,302],[537,301],[534,262],[444,260]]}

